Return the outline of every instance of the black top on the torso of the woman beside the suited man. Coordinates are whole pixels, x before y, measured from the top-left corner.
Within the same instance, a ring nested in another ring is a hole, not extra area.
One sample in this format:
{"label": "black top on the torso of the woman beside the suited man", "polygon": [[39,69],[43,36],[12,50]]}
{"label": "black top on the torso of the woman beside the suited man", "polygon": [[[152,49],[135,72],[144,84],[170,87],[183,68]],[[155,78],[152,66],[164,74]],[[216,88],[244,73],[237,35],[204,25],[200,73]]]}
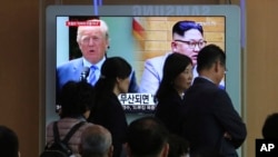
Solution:
{"label": "black top on the torso of the woman beside the suited man", "polygon": [[172,89],[166,98],[162,98],[157,107],[155,116],[158,117],[171,134],[180,135],[183,98]]}

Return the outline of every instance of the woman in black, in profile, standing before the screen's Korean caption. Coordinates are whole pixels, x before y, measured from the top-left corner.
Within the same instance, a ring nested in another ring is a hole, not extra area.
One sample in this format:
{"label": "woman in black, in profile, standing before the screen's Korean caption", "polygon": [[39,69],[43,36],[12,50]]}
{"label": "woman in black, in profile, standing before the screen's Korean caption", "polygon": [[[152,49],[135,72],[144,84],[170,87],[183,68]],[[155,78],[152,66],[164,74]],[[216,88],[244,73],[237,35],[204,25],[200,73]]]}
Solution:
{"label": "woman in black, in profile, standing before the screen's Korean caption", "polygon": [[122,153],[126,143],[128,122],[118,99],[127,94],[131,66],[120,57],[107,58],[101,67],[101,76],[96,84],[96,105],[89,121],[106,127],[112,135],[113,157]]}

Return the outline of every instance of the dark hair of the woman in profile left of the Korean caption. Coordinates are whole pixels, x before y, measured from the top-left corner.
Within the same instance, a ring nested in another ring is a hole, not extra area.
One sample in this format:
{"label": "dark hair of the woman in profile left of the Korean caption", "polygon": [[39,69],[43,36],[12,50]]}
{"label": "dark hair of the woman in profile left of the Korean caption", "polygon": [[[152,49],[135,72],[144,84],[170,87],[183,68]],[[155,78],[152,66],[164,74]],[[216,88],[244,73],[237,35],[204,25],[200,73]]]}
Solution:
{"label": "dark hair of the woman in profile left of the Korean caption", "polygon": [[131,73],[131,66],[121,57],[107,58],[101,66],[101,76],[96,84],[96,90],[112,91],[117,78],[126,79]]}

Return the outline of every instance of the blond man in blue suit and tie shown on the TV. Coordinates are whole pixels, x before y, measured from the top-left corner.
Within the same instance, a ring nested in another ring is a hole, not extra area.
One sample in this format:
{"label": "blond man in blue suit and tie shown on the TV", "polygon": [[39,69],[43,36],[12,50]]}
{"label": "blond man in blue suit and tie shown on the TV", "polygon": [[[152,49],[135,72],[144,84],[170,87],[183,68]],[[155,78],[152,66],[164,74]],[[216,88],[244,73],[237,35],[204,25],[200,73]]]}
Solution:
{"label": "blond man in blue suit and tie shown on the TV", "polygon": [[[79,26],[77,30],[77,42],[81,50],[82,57],[72,59],[57,67],[57,88],[58,91],[69,80],[82,80],[82,72],[88,72],[83,80],[87,80],[92,86],[100,77],[100,69],[107,59],[109,49],[108,26],[103,20],[92,19],[87,20],[86,26]],[[85,67],[90,68],[86,70]],[[137,92],[138,86],[132,71],[130,75],[130,92]]]}

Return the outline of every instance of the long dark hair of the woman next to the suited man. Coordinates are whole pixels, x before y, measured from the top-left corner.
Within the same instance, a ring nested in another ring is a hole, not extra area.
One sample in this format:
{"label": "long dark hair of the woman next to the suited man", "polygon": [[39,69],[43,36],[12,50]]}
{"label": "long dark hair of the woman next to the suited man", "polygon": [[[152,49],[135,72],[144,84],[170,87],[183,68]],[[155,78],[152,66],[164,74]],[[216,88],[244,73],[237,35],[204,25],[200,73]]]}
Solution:
{"label": "long dark hair of the woman next to the suited man", "polygon": [[175,79],[185,71],[185,69],[192,65],[192,60],[181,53],[172,52],[165,61],[163,78],[157,91],[157,99],[165,98],[168,92],[173,90]]}

